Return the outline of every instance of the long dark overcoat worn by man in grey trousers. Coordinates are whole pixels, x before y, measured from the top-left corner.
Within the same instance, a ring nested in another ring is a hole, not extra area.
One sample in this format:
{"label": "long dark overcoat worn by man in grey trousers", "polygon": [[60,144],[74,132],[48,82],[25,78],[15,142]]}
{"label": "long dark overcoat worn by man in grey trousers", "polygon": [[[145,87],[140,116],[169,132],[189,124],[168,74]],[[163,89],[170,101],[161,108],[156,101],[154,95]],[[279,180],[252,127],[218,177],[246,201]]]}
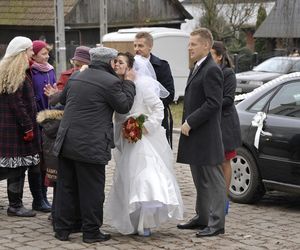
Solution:
{"label": "long dark overcoat worn by man in grey trousers", "polygon": [[220,128],[223,74],[211,55],[190,74],[185,89],[183,122],[189,136],[180,135],[177,161],[190,165],[217,165],[224,160]]}

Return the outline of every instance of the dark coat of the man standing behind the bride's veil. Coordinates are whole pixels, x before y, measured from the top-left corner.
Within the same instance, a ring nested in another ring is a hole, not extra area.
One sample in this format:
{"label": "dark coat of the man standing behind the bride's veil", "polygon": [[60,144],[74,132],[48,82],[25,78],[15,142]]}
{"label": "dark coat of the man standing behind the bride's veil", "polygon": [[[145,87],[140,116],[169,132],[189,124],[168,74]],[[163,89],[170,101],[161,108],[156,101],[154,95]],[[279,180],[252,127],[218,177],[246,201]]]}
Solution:
{"label": "dark coat of the man standing behind the bride's veil", "polygon": [[172,146],[173,118],[169,105],[173,102],[175,95],[174,79],[171,73],[170,65],[167,61],[161,60],[157,56],[151,54],[150,63],[154,68],[157,81],[159,81],[170,93],[167,98],[162,99],[165,107],[162,126],[166,129],[167,139]]}

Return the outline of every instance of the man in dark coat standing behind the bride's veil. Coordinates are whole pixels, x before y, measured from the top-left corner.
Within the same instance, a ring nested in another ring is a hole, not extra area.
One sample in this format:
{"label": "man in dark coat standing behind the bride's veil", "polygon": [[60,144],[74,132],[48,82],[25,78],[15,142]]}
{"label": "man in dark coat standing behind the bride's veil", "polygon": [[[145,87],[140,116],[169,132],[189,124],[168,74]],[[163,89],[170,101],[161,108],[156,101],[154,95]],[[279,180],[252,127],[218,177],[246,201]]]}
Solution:
{"label": "man in dark coat standing behind the bride's veil", "polygon": [[172,147],[173,118],[169,105],[174,100],[175,90],[174,80],[169,63],[165,60],[161,60],[151,53],[153,47],[153,37],[148,32],[138,32],[135,36],[133,46],[137,55],[141,55],[150,60],[150,63],[154,68],[157,81],[159,81],[170,93],[167,98],[162,99],[165,107],[162,126],[166,129],[167,139]]}

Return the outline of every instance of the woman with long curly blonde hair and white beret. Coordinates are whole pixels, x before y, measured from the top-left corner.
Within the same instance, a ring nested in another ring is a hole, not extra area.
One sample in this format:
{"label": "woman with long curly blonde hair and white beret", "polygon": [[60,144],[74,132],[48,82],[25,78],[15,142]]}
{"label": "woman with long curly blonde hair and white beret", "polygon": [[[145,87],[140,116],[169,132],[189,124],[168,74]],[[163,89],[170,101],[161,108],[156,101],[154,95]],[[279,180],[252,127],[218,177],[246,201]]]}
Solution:
{"label": "woman with long curly blonde hair and white beret", "polygon": [[0,179],[8,178],[9,216],[35,216],[22,203],[25,171],[39,164],[41,151],[29,72],[32,56],[32,41],[17,36],[0,62]]}

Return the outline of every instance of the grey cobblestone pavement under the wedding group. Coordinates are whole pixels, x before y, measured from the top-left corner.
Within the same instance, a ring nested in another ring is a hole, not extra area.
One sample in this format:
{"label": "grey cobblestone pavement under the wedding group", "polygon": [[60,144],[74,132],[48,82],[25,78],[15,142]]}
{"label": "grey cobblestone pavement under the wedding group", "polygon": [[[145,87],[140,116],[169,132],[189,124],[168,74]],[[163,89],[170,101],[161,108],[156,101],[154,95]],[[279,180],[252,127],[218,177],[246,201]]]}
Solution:
{"label": "grey cobblestone pavement under the wedding group", "polygon": [[[174,152],[177,151],[178,135]],[[175,155],[175,153],[174,153]],[[175,155],[176,157],[176,155]],[[108,168],[106,190],[110,188],[113,166]],[[195,192],[187,165],[175,164],[175,171],[185,203],[185,217],[193,216]],[[51,190],[49,192],[52,197]],[[103,230],[112,234],[104,243],[86,244],[81,234],[72,234],[69,242],[53,237],[47,214],[38,213],[34,218],[16,218],[6,215],[6,181],[0,182],[0,249],[300,249],[300,196],[271,193],[258,204],[231,203],[226,220],[226,233],[222,236],[199,239],[195,231],[181,231],[175,221],[153,230],[151,237],[122,236],[109,225]],[[26,183],[24,204],[30,207],[31,195]]]}

